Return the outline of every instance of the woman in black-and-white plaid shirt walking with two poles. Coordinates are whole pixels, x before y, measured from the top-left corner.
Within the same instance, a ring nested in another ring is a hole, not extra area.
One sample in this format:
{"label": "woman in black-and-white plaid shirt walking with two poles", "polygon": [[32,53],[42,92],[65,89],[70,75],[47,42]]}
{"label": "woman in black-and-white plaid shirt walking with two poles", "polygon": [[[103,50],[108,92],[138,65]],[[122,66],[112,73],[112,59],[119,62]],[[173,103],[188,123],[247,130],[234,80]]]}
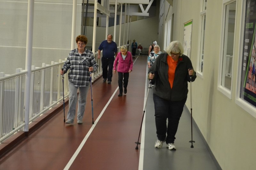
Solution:
{"label": "woman in black-and-white plaid shirt walking with two poles", "polygon": [[[83,123],[86,97],[90,88],[90,72],[98,70],[98,64],[92,51],[85,48],[87,41],[84,35],[76,37],[77,48],[69,52],[68,58],[60,70],[60,74],[63,75],[70,69],[68,73],[69,108],[66,121],[68,124],[74,123],[77,100],[77,123]],[[78,89],[79,94],[77,97]]]}

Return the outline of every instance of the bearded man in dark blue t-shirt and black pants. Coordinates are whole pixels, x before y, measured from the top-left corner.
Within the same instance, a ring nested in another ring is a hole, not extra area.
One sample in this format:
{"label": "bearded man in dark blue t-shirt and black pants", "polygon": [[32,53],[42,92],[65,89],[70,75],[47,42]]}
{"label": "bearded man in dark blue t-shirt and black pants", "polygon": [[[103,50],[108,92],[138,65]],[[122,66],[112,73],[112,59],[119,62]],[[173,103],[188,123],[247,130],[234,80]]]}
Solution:
{"label": "bearded man in dark blue t-shirt and black pants", "polygon": [[102,50],[101,65],[103,82],[106,82],[108,78],[108,84],[111,84],[112,81],[113,64],[115,61],[115,55],[117,55],[117,45],[112,41],[112,38],[113,36],[108,34],[108,39],[102,41],[98,48],[98,59],[100,59],[100,51]]}

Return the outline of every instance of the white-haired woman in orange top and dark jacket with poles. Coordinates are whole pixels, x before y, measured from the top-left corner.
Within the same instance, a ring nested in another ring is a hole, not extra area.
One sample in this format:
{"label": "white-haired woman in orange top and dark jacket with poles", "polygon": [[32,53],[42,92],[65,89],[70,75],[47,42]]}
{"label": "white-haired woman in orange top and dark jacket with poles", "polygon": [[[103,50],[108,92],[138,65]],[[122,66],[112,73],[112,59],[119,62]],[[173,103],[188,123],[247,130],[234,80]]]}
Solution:
{"label": "white-haired woman in orange top and dark jacket with poles", "polygon": [[[188,82],[195,81],[196,73],[179,41],[172,41],[149,68],[148,79],[155,83],[153,100],[155,105],[156,148],[163,142],[169,150],[176,150],[175,134],[188,95]],[[166,126],[166,120],[168,125]],[[166,136],[167,134],[167,136]]]}

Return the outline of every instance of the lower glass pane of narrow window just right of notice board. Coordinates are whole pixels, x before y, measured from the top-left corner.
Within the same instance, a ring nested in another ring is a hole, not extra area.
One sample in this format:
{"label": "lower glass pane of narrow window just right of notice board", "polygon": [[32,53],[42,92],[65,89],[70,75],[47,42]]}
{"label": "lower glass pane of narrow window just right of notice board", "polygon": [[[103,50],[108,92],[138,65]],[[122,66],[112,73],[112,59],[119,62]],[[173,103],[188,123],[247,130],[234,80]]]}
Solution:
{"label": "lower glass pane of narrow window just right of notice board", "polygon": [[199,71],[203,72],[204,63],[204,35],[205,35],[205,15],[202,16],[202,29],[201,29],[201,44],[200,44],[200,60],[199,60]]}

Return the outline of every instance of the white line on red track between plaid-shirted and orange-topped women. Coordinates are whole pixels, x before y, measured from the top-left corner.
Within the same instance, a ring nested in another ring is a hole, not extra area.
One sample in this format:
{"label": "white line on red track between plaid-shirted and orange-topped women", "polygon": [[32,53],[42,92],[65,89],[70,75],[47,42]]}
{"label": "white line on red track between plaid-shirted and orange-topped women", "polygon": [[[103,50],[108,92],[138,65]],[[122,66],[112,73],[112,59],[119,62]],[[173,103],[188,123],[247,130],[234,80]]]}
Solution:
{"label": "white line on red track between plaid-shirted and orange-topped women", "polygon": [[[139,56],[137,56],[138,58]],[[135,59],[135,61],[133,63],[136,62],[137,58]],[[115,90],[115,92],[112,94],[112,96],[110,97],[110,99],[108,100],[108,103],[105,105],[105,107],[102,109],[100,115],[98,116],[98,118],[96,119],[96,121],[94,122],[94,124],[92,125],[91,129],[88,131],[88,133],[85,135],[83,141],[81,142],[81,144],[78,146],[78,148],[76,149],[76,152],[73,154],[73,156],[71,157],[71,159],[68,161],[68,164],[65,166],[64,170],[68,170],[70,168],[70,166],[72,165],[72,163],[74,162],[74,160],[76,159],[77,155],[79,154],[79,152],[81,151],[81,149],[83,148],[86,140],[88,139],[88,137],[91,135],[92,130],[95,128],[95,126],[97,125],[97,123],[99,122],[101,116],[103,115],[103,113],[105,112],[105,110],[107,109],[110,101],[113,99],[114,95],[116,94],[117,90],[118,90],[118,86]],[[145,99],[144,99],[145,100]],[[144,125],[145,126],[145,125]],[[143,133],[144,134],[144,133]]]}

